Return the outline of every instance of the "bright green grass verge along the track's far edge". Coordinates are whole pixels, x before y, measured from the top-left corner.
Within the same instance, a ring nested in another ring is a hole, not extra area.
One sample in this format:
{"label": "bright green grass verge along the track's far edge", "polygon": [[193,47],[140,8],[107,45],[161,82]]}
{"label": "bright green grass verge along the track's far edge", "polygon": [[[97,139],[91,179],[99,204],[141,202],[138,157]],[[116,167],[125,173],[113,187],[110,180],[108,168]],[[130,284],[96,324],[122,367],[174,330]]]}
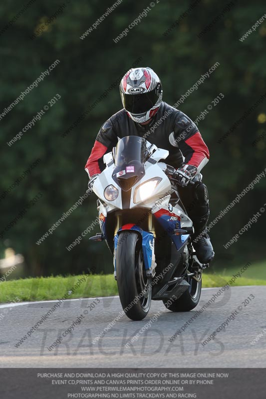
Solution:
{"label": "bright green grass verge along the track's far edge", "polygon": [[[259,271],[260,267],[256,269]],[[262,265],[263,266],[263,265]],[[265,265],[264,265],[265,269]],[[226,270],[220,274],[204,274],[203,287],[222,287],[231,280],[233,274],[239,269]],[[241,285],[266,285],[266,280],[245,277],[237,278],[231,286]],[[259,273],[251,274],[253,277],[261,276]],[[4,281],[0,283],[0,303],[12,301],[43,301],[52,299],[88,298],[97,296],[117,295],[117,284],[112,274],[107,275],[79,275],[26,278]]]}

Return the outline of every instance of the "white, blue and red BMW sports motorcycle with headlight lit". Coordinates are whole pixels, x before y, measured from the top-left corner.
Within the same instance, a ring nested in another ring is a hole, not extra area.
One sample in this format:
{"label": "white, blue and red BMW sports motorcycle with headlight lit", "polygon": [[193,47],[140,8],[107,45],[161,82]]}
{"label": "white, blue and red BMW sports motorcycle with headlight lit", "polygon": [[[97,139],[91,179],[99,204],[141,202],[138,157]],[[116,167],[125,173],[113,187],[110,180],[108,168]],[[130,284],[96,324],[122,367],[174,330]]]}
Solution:
{"label": "white, blue and red BMW sports motorcycle with headlight lit", "polygon": [[127,317],[144,319],[151,300],[173,312],[190,311],[200,300],[202,271],[194,232],[173,179],[163,161],[167,150],[128,136],[105,154],[106,168],[93,185],[101,232],[114,261],[120,302]]}

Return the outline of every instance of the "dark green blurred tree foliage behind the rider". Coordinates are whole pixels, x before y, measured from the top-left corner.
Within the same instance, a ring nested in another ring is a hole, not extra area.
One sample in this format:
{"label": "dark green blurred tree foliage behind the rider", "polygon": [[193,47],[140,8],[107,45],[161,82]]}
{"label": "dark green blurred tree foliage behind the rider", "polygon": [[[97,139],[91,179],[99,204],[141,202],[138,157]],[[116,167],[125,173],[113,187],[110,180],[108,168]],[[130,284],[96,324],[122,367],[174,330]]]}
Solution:
{"label": "dark green blurred tree foliage behind the rider", "polygon": [[[78,273],[92,265],[111,272],[112,259],[105,244],[88,236],[73,250],[66,246],[97,215],[96,198],[84,201],[41,245],[36,241],[82,196],[87,187],[84,165],[100,126],[121,109],[118,87],[73,128],[61,135],[115,82],[124,70],[142,57],[161,77],[164,100],[174,104],[216,62],[220,66],[179,108],[193,120],[219,93],[225,98],[199,123],[211,160],[204,182],[211,198],[213,220],[237,194],[266,167],[266,139],[253,145],[266,130],[266,101],[260,104],[222,144],[218,140],[266,92],[266,21],[243,42],[239,39],[265,13],[263,1],[234,1],[231,10],[199,38],[197,35],[219,15],[226,3],[200,1],[178,25],[163,33],[186,11],[189,1],[160,0],[141,22],[117,44],[121,31],[149,6],[149,2],[124,0],[83,40],[80,36],[97,20],[110,0],[65,2],[63,11],[42,34],[30,39],[43,21],[55,14],[61,1],[35,1],[7,29],[6,24],[28,2],[13,0],[0,5],[0,113],[55,60],[60,63],[38,87],[30,91],[0,120],[1,182],[5,191],[37,158],[41,162],[18,187],[0,200],[1,230],[38,192],[42,198],[9,229],[0,244],[22,253],[28,275]],[[10,141],[56,94],[61,99],[34,127],[11,147]],[[260,180],[233,209],[211,229],[218,253],[217,265],[265,259],[265,215],[226,250],[228,242],[266,202],[266,179]],[[94,233],[98,231],[97,227]],[[224,256],[224,257],[223,257]],[[232,262],[232,260],[231,260]]]}

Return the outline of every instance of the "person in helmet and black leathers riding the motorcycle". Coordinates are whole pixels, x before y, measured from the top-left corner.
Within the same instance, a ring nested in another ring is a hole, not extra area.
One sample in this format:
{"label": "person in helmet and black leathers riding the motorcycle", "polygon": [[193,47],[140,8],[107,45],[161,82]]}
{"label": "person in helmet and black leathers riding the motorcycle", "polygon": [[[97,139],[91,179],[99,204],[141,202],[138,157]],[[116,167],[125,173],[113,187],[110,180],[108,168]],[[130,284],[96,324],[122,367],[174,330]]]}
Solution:
{"label": "person in helmet and black leathers riding the motorcycle", "polygon": [[[130,69],[119,88],[123,109],[102,125],[85,166],[89,189],[104,169],[104,154],[112,151],[122,137],[143,137],[168,150],[164,162],[175,168],[173,178],[195,229],[192,241],[196,255],[201,263],[209,263],[214,257],[206,229],[209,198],[200,172],[210,155],[199,129],[187,115],[162,101],[161,81],[151,68]],[[189,184],[191,181],[195,184]]]}

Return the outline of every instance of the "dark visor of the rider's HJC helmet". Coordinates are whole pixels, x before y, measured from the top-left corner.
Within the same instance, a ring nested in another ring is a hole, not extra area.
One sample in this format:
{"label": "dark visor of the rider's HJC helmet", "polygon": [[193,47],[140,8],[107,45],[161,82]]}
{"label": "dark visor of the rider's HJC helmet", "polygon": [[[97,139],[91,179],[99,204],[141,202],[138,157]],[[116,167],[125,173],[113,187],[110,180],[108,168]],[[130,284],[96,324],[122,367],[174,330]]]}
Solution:
{"label": "dark visor of the rider's HJC helmet", "polygon": [[158,101],[155,89],[143,94],[122,94],[122,102],[126,111],[131,114],[143,114]]}

